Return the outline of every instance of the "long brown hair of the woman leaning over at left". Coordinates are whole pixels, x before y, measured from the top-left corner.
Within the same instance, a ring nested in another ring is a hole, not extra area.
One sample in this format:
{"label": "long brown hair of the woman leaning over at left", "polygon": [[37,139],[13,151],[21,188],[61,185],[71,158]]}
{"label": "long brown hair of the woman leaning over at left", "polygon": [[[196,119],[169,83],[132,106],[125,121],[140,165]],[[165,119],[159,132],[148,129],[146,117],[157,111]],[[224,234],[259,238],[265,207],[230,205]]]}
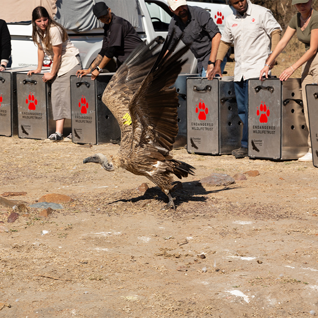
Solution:
{"label": "long brown hair of the woman leaning over at left", "polygon": [[[45,33],[40,32],[36,23],[35,23],[35,20],[38,20],[41,18],[48,19],[48,24],[47,24]],[[36,45],[40,46],[39,39],[41,39],[41,41],[45,45],[45,47],[48,50],[51,50],[52,44],[51,44],[50,28],[52,26],[58,27],[59,31],[61,32],[62,41],[65,42],[68,39],[68,33],[67,33],[66,29],[61,24],[57,23],[55,20],[53,20],[50,17],[50,15],[48,14],[45,7],[41,7],[41,6],[36,7],[32,12],[32,40],[33,40],[33,42]]]}

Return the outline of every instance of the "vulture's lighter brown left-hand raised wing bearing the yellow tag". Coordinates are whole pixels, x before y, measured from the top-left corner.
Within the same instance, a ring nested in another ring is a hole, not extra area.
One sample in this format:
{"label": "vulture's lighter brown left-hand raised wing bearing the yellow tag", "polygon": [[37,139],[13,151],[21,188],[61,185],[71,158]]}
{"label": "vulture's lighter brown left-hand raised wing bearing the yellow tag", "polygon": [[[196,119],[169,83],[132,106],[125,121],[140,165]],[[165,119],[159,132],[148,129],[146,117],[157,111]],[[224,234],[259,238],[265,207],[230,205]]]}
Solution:
{"label": "vulture's lighter brown left-hand raised wing bearing the yellow tag", "polygon": [[129,101],[156,61],[158,54],[154,51],[162,43],[163,38],[157,37],[148,45],[139,45],[117,69],[103,93],[102,101],[118,121],[122,139],[123,132],[131,132],[127,120]]}

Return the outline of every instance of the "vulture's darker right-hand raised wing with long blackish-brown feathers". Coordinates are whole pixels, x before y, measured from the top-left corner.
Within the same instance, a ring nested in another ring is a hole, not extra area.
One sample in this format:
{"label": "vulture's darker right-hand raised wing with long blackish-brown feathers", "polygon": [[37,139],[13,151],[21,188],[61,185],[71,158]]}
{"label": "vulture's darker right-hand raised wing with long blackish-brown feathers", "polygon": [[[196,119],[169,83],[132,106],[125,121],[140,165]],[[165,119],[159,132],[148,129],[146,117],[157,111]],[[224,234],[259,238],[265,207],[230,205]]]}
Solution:
{"label": "vulture's darker right-hand raised wing with long blackish-brown feathers", "polygon": [[[170,52],[173,52],[178,42]],[[169,154],[178,134],[178,95],[171,86],[186,62],[181,58],[188,50],[188,47],[183,47],[173,55],[165,55],[168,45],[166,41],[153,68],[129,103],[133,149],[148,148],[151,153],[156,151],[163,156]]]}

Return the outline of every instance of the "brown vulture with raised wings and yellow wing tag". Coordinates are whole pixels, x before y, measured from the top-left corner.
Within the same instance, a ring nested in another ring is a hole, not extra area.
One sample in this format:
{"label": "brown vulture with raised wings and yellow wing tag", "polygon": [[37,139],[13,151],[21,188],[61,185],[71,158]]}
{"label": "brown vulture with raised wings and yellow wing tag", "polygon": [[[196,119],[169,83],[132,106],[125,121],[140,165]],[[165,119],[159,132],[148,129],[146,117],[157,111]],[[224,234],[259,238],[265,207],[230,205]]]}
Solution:
{"label": "brown vulture with raised wings and yellow wing tag", "polygon": [[[172,88],[182,65],[183,47],[174,54],[165,54],[165,41],[159,53],[154,53],[163,38],[140,45],[117,69],[108,83],[103,103],[114,114],[121,130],[120,148],[110,161],[95,154],[83,163],[95,162],[107,171],[122,167],[145,176],[164,192],[169,202],[164,208],[176,209],[170,194],[173,176],[179,179],[194,175],[195,168],[170,154],[178,134],[178,95]],[[173,52],[176,45],[169,51]]]}

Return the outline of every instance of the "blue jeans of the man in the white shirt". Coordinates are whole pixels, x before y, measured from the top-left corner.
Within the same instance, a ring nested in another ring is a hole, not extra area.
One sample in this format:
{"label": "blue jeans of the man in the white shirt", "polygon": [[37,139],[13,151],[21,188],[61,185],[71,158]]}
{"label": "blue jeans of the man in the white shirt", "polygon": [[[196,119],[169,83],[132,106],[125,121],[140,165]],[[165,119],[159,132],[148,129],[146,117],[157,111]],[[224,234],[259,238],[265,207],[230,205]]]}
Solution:
{"label": "blue jeans of the man in the white shirt", "polygon": [[248,148],[249,139],[249,90],[248,80],[241,79],[240,82],[234,82],[237,109],[239,117],[243,123],[243,136],[241,147]]}

